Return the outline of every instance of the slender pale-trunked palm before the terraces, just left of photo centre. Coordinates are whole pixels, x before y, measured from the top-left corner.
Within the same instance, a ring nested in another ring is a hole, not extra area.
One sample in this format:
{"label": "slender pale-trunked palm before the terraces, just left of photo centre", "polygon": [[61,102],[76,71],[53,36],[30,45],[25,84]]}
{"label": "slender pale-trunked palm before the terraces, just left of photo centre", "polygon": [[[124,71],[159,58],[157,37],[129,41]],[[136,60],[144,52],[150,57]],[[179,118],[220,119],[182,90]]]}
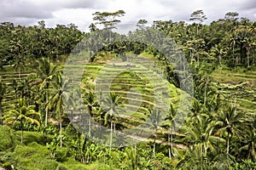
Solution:
{"label": "slender pale-trunked palm before the terraces, just left of photo centre", "polygon": [[115,131],[114,119],[119,115],[120,111],[123,111],[120,106],[122,106],[121,96],[110,92],[109,96],[102,99],[102,109],[106,111],[105,114],[105,124],[110,122],[110,141],[109,146],[110,149],[112,147],[112,139],[113,139],[113,129]]}

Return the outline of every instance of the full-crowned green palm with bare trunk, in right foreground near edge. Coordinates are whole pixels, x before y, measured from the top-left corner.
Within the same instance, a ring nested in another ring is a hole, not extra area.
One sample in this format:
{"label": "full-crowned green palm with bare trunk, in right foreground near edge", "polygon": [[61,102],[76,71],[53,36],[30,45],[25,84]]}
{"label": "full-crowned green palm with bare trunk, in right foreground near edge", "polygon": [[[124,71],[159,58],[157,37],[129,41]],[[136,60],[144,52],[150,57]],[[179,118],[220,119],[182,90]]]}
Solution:
{"label": "full-crowned green palm with bare trunk, in right foreground near edge", "polygon": [[231,105],[226,111],[221,111],[220,115],[217,116],[216,127],[221,131],[227,132],[226,138],[226,153],[230,153],[230,139],[233,134],[236,133],[239,136],[243,114],[236,111],[236,106]]}

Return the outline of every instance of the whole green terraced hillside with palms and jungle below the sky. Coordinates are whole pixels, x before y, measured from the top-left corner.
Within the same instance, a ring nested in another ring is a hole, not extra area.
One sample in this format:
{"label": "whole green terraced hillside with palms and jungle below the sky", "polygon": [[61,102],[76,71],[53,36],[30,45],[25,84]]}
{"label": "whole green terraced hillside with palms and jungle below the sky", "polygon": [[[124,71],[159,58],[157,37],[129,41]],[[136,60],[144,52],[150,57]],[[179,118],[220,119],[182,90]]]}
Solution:
{"label": "whole green terraced hillside with palms and jungle below the sky", "polygon": [[[0,24],[0,167],[255,169],[255,22],[230,12],[204,25],[198,10],[193,24],[138,20],[120,35],[113,28],[124,14],[95,13],[87,33],[73,24]],[[154,66],[130,62],[131,54]],[[82,76],[67,79],[67,70]],[[119,132],[142,124],[150,135],[131,134],[140,142],[124,146]]]}

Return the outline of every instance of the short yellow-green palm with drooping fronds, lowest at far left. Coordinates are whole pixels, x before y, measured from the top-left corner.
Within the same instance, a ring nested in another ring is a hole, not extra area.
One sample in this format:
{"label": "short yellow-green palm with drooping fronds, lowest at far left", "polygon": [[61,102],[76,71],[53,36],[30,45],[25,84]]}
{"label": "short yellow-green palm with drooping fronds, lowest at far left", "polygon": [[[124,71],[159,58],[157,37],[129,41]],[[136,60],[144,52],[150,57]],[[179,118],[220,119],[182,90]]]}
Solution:
{"label": "short yellow-green palm with drooping fronds, lowest at far left", "polygon": [[32,124],[35,123],[38,126],[40,125],[36,119],[40,114],[34,110],[34,107],[35,105],[27,105],[25,98],[18,99],[18,104],[12,105],[12,109],[3,114],[3,121],[7,124],[14,125],[16,122],[20,122],[21,143],[23,142],[23,129],[25,122],[30,122]]}

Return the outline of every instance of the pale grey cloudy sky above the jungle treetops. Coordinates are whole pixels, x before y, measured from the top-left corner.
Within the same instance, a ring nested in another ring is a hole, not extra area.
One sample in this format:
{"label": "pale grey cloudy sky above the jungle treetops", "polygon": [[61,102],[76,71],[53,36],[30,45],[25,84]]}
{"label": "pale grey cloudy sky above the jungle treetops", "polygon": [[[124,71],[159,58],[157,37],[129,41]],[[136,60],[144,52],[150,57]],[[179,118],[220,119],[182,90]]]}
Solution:
{"label": "pale grey cloudy sky above the jungle treetops", "polygon": [[[255,0],[0,0],[0,22],[15,25],[36,25],[44,20],[47,27],[70,23],[88,31],[92,14],[96,11],[125,11],[121,18],[125,27],[135,26],[137,20],[189,20],[190,14],[202,9],[210,23],[224,18],[228,12],[256,21]],[[123,27],[124,27],[123,26]]]}

